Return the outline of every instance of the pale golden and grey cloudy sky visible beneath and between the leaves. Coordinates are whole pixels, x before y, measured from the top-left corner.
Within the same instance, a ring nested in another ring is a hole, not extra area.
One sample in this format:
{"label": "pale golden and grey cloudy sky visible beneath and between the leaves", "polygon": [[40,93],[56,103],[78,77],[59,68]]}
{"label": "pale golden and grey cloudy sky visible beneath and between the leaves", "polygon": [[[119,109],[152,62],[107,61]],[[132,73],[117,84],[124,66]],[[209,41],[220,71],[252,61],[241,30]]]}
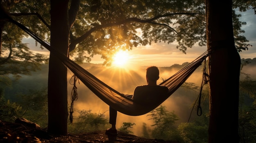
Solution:
{"label": "pale golden and grey cloudy sky visible beneath and between the leaves", "polygon": [[[249,47],[248,51],[240,52],[240,57],[252,59],[256,57],[256,15],[254,15],[253,10],[243,13],[237,11],[237,13],[242,15],[240,20],[247,23],[245,26],[242,26],[242,30],[245,30],[243,35],[249,40],[248,44],[252,45],[252,47]],[[47,49],[42,51],[38,46],[35,47],[33,39],[25,39],[23,42],[30,43],[29,46],[31,50],[49,55]],[[184,54],[176,48],[175,43],[167,44],[164,42],[152,43],[147,46],[138,46],[127,52],[128,61],[126,63],[126,68],[139,66],[171,66],[173,64],[192,62],[206,50],[206,46],[200,47],[195,45],[192,48],[188,48],[186,54]],[[103,59],[101,59],[100,55],[96,55],[92,58],[91,63],[102,64]]]}

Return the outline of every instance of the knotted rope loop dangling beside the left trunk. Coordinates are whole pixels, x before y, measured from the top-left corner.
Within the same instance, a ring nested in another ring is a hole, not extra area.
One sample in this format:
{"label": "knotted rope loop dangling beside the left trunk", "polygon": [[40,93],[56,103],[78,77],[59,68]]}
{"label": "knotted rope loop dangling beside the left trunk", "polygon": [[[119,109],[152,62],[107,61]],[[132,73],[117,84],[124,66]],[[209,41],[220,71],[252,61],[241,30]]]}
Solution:
{"label": "knotted rope loop dangling beside the left trunk", "polygon": [[[71,77],[71,79],[74,78],[73,81],[73,89],[71,91],[71,105],[70,105],[70,122],[73,123],[73,112],[74,112],[74,101],[76,101],[78,99],[78,94],[77,94],[77,87],[76,87],[76,81],[78,80],[78,78],[76,77],[76,75],[73,75]],[[71,81],[70,79],[70,81]],[[79,83],[79,81],[78,81]],[[80,83],[79,83],[80,84]]]}

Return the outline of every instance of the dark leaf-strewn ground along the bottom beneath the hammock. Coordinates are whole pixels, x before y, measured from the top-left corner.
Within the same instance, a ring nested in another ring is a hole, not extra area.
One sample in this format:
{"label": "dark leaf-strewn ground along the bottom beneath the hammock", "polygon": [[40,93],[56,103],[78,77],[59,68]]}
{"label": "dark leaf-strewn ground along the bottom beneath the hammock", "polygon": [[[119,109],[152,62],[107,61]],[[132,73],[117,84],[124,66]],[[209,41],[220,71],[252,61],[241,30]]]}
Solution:
{"label": "dark leaf-strewn ground along the bottom beneath the hammock", "polygon": [[10,123],[0,120],[0,143],[178,143],[157,139],[145,139],[132,134],[119,132],[117,136],[108,136],[105,131],[67,136],[54,136],[35,123],[16,121]]}

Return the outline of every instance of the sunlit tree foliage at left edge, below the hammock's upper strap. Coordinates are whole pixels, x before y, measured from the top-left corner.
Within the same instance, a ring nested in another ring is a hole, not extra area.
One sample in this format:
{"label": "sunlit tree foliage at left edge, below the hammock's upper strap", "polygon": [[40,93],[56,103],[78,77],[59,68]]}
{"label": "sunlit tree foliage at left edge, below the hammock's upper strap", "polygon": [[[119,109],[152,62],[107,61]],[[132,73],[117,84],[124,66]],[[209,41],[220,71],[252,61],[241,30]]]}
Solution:
{"label": "sunlit tree foliage at left edge, below the hammock's upper strap", "polygon": [[48,57],[34,53],[28,48],[28,43],[22,43],[22,32],[17,26],[9,24],[4,27],[1,38],[0,75],[29,75],[30,71],[40,70],[42,63],[48,62]]}

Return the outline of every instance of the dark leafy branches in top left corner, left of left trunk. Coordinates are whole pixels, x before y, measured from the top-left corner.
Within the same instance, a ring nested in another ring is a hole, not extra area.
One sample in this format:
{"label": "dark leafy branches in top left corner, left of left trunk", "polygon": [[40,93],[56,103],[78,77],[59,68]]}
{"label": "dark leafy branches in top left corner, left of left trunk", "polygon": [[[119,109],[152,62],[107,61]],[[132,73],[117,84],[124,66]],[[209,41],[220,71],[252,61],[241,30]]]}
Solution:
{"label": "dark leafy branches in top left corner, left of left trunk", "polygon": [[[49,42],[49,1],[37,1],[37,0],[4,0],[1,2],[1,8],[7,11],[9,15],[12,15],[15,20],[26,25],[31,30],[33,30],[39,37]],[[11,40],[19,40],[20,43],[22,38],[27,37],[27,33],[19,29],[12,23],[7,23],[3,21],[4,33],[3,37],[6,37],[6,42]],[[37,46],[37,42],[35,42]],[[40,46],[40,48],[43,48]]]}

